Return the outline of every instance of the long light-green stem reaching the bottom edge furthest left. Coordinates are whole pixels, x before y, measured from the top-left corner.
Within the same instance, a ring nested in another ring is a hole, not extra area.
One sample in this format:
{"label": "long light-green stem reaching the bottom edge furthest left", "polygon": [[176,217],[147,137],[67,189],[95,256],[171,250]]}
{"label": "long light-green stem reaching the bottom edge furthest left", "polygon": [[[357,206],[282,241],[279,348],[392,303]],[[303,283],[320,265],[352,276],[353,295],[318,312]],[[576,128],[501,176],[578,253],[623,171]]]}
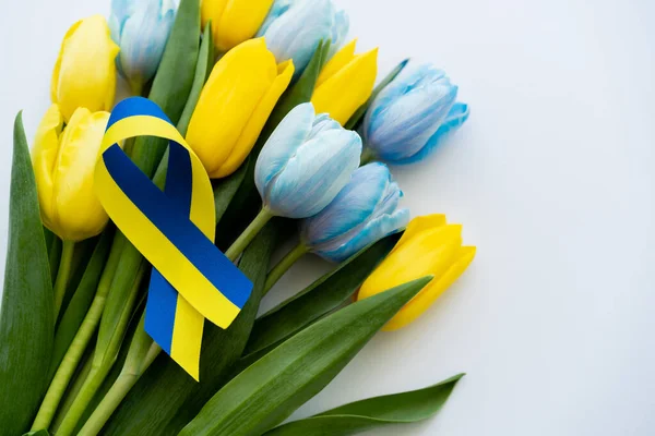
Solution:
{"label": "long light-green stem reaching the bottom edge furthest left", "polygon": [[80,360],[84,354],[84,350],[86,350],[93,334],[100,323],[100,317],[107,301],[107,294],[109,293],[111,280],[114,279],[118,261],[120,259],[120,253],[122,252],[122,234],[119,233],[114,239],[107,266],[105,267],[103,276],[100,277],[100,281],[98,282],[98,290],[96,291],[86,316],[84,316],[84,319],[82,320],[82,325],[78,329],[73,341],[71,342],[69,349],[63,355],[63,359],[61,360],[61,363],[59,364],[59,367],[57,368],[57,372],[55,373],[55,377],[48,387],[46,397],[44,398],[38,413],[36,414],[34,424],[32,424],[33,431],[48,428],[52,422],[52,417],[57,412],[59,402],[61,401],[61,398],[63,397],[63,393],[66,392],[66,389],[73,377],[75,368],[78,367]]}

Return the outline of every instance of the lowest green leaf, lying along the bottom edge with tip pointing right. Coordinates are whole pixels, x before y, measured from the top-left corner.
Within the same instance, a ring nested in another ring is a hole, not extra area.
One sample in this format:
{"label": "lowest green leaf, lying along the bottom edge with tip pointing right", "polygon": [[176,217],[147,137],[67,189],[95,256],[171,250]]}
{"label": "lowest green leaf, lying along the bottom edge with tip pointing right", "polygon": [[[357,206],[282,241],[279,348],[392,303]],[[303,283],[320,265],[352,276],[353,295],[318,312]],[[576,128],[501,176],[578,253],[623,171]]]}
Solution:
{"label": "lowest green leaf, lying along the bottom edge with tip pointing right", "polygon": [[458,374],[419,390],[352,402],[305,420],[281,425],[264,435],[347,436],[381,425],[424,421],[441,410],[463,376],[464,374]]}

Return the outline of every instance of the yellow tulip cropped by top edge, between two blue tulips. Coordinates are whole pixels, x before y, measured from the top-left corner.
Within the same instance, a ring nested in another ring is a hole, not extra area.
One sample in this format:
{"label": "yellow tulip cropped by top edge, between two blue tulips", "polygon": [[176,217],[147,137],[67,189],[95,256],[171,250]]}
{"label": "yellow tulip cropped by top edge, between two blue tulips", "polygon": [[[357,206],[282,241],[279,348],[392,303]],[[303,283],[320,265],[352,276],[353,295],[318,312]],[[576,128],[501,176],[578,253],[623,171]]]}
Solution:
{"label": "yellow tulip cropped by top edge, between two blue tulips", "polygon": [[252,38],[272,4],[273,0],[202,0],[202,26],[212,20],[214,46],[224,52]]}

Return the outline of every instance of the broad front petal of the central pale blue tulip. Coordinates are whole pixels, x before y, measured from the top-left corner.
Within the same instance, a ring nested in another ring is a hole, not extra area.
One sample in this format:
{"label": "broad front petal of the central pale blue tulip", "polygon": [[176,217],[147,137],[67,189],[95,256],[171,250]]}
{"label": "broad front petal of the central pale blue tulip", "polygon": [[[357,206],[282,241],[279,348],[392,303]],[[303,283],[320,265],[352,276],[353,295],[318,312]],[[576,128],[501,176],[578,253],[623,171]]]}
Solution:
{"label": "broad front petal of the central pale blue tulip", "polygon": [[321,211],[359,167],[361,138],[346,130],[329,130],[303,143],[265,192],[266,206],[287,218]]}

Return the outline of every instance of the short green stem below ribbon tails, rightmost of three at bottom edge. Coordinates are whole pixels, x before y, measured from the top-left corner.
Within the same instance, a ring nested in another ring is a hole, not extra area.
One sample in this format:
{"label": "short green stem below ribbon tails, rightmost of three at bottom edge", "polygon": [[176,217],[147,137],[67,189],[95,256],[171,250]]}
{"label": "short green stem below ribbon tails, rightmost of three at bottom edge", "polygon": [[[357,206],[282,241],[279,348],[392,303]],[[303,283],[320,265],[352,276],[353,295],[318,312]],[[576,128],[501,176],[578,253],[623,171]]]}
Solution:
{"label": "short green stem below ribbon tails, rightmost of three at bottom edge", "polygon": [[[141,328],[141,326],[140,326]],[[136,335],[147,335],[142,328],[136,331]],[[148,366],[155,361],[155,358],[159,355],[162,349],[155,342],[151,343],[146,355],[140,363],[138,368],[132,368],[128,364],[121,371],[111,388],[103,398],[103,401],[98,404],[93,414],[88,417],[88,421],[84,424],[78,436],[95,436],[100,433],[103,426],[107,423],[114,411],[120,405],[120,402],[126,398],[128,392],[134,387],[141,375],[148,368]]]}

